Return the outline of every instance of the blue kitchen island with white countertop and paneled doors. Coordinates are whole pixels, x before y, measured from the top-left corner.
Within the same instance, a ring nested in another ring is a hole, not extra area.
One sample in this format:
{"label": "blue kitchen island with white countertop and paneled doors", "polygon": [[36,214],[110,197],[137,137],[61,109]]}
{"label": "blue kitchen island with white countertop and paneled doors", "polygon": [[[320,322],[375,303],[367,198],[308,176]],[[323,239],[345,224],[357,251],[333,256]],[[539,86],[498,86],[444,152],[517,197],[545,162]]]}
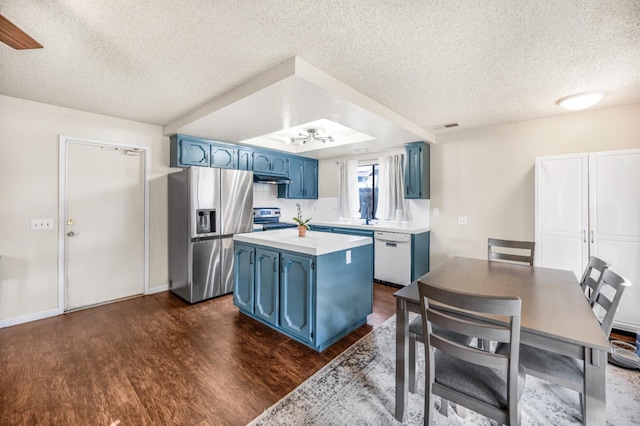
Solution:
{"label": "blue kitchen island with white countertop and paneled doors", "polygon": [[233,239],[233,303],[242,313],[317,351],[366,323],[371,238],[282,229]]}

